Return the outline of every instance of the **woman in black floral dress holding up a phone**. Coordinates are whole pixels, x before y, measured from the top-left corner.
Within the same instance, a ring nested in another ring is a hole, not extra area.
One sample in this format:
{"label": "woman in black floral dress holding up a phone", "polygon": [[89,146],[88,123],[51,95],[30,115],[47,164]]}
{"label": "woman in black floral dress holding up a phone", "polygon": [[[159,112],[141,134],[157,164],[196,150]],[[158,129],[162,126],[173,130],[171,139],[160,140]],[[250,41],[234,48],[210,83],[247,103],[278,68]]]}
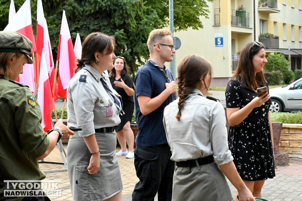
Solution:
{"label": "woman in black floral dress holding up a phone", "polygon": [[225,93],[231,125],[229,149],[240,177],[255,197],[261,197],[264,181],[275,176],[269,116],[271,99],[269,91],[260,97],[256,92],[259,87],[268,88],[262,73],[265,63],[265,46],[260,42],[247,43]]}

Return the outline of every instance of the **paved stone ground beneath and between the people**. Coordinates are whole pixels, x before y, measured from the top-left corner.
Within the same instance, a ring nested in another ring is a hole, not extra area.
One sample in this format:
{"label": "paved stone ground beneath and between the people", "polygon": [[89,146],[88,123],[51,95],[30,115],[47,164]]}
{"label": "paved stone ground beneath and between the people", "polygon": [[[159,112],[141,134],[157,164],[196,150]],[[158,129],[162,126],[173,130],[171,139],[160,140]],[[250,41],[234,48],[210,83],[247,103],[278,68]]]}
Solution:
{"label": "paved stone ground beneath and between the people", "polygon": [[[67,144],[63,144],[67,151]],[[116,152],[120,151],[117,147]],[[135,184],[139,181],[134,168],[134,159],[124,156],[117,157],[120,165],[120,173],[123,182],[123,200],[131,200],[131,194]],[[66,158],[65,158],[66,160]],[[59,149],[56,147],[45,161],[62,162]],[[277,166],[276,177],[265,181],[262,188],[262,197],[270,201],[302,201],[302,159],[290,158],[290,164],[286,167]],[[64,169],[63,164],[40,163],[40,168],[45,170]],[[62,180],[57,186],[62,192],[60,197],[51,197],[51,200],[72,200],[67,171],[46,173],[45,180]],[[235,187],[228,181],[231,192],[236,194]],[[157,200],[157,196],[156,199]]]}

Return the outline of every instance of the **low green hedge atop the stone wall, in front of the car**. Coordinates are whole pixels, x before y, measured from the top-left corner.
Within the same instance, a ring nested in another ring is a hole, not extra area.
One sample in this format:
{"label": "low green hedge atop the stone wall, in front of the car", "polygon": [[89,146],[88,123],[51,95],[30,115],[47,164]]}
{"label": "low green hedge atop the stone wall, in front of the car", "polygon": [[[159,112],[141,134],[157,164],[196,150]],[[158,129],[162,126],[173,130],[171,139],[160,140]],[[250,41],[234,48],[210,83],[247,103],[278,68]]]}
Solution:
{"label": "low green hedge atop the stone wall, in front of the car", "polygon": [[271,121],[282,123],[302,123],[302,112],[270,112]]}

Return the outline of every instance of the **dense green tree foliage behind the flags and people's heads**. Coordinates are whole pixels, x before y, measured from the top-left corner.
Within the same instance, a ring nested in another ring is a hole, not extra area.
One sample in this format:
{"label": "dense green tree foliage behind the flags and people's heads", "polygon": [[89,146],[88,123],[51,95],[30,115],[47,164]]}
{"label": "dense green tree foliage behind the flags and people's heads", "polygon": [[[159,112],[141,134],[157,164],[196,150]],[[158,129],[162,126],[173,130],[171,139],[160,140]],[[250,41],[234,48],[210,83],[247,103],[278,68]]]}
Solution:
{"label": "dense green tree foliage behind the flags and people's heads", "polygon": [[[175,30],[203,28],[200,16],[208,18],[206,2],[213,0],[174,0]],[[14,0],[16,11],[24,0]],[[138,66],[149,57],[146,45],[149,33],[155,28],[169,25],[169,0],[42,0],[47,20],[53,57],[59,43],[63,10],[69,25],[72,41],[79,33],[81,40],[92,32],[104,32],[116,40],[115,54],[125,57],[134,74]],[[10,1],[0,0],[0,30],[8,24]],[[37,2],[31,1],[32,24],[36,32]]]}

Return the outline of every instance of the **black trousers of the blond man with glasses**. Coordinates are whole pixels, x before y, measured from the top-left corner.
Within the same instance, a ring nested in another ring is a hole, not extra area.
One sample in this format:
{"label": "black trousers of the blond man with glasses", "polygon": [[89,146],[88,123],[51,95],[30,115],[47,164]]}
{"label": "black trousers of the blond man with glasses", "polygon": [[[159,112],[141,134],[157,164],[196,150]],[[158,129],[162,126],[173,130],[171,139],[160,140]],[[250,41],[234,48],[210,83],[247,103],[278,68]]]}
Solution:
{"label": "black trousers of the blond man with glasses", "polygon": [[172,184],[175,169],[168,144],[142,147],[134,151],[134,166],[140,181],[135,185],[132,201],[172,200]]}

